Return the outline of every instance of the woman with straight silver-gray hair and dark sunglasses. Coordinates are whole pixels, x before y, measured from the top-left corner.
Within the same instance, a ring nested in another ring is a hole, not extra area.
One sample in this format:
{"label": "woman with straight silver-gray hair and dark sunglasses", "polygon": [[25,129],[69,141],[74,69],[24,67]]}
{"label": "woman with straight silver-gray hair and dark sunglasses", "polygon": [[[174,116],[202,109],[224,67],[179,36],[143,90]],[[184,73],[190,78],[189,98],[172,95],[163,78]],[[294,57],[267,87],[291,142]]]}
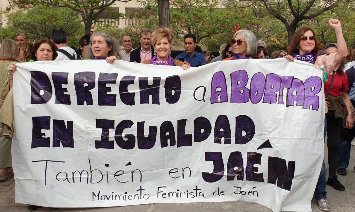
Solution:
{"label": "woman with straight silver-gray hair and dark sunglasses", "polygon": [[234,34],[230,43],[234,56],[224,60],[239,60],[256,57],[256,37],[253,32],[247,29],[239,30]]}

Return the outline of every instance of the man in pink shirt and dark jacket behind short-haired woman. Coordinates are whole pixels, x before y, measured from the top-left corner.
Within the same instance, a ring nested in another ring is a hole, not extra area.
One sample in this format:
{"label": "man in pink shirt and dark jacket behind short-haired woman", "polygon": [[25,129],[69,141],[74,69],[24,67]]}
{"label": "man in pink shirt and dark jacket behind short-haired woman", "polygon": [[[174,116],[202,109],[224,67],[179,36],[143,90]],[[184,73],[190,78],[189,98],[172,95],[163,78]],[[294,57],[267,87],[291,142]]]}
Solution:
{"label": "man in pink shirt and dark jacket behind short-haired woman", "polygon": [[131,52],[131,62],[141,63],[144,60],[154,57],[154,48],[151,45],[152,32],[149,29],[142,29],[139,35],[141,46]]}

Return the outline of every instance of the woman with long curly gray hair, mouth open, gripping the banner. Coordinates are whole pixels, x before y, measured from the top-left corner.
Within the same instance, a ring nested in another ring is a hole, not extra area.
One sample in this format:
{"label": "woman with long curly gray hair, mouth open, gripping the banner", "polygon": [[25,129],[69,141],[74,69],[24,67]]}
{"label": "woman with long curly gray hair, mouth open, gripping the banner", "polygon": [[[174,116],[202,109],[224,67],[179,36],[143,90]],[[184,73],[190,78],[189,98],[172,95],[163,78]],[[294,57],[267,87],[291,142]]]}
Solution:
{"label": "woman with long curly gray hair, mouth open, gripping the banner", "polygon": [[95,32],[90,37],[85,58],[91,60],[106,60],[113,64],[117,59],[121,59],[118,41],[105,32]]}

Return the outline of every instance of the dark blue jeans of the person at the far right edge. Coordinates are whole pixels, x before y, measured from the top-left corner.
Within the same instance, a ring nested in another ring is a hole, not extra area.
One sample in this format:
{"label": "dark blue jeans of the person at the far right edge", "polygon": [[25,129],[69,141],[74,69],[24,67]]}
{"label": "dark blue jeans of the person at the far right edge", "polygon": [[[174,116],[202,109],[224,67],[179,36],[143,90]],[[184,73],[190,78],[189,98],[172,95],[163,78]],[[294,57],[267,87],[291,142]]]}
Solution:
{"label": "dark blue jeans of the person at the far right edge", "polygon": [[355,128],[346,133],[340,141],[338,150],[338,168],[348,168],[350,160],[351,141],[355,138]]}

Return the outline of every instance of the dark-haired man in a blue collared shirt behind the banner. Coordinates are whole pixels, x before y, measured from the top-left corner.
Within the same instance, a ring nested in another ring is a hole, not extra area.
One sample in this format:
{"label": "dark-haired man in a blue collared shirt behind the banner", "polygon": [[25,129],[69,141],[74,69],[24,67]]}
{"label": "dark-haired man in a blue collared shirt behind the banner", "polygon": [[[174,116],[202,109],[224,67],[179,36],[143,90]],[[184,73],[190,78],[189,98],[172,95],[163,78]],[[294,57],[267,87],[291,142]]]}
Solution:
{"label": "dark-haired man in a blue collared shirt behind the banner", "polygon": [[187,34],[185,35],[184,40],[185,51],[176,56],[175,59],[179,60],[179,57],[182,57],[186,62],[190,63],[191,67],[206,64],[206,57],[204,57],[203,54],[195,52],[195,47],[197,45],[195,35]]}

